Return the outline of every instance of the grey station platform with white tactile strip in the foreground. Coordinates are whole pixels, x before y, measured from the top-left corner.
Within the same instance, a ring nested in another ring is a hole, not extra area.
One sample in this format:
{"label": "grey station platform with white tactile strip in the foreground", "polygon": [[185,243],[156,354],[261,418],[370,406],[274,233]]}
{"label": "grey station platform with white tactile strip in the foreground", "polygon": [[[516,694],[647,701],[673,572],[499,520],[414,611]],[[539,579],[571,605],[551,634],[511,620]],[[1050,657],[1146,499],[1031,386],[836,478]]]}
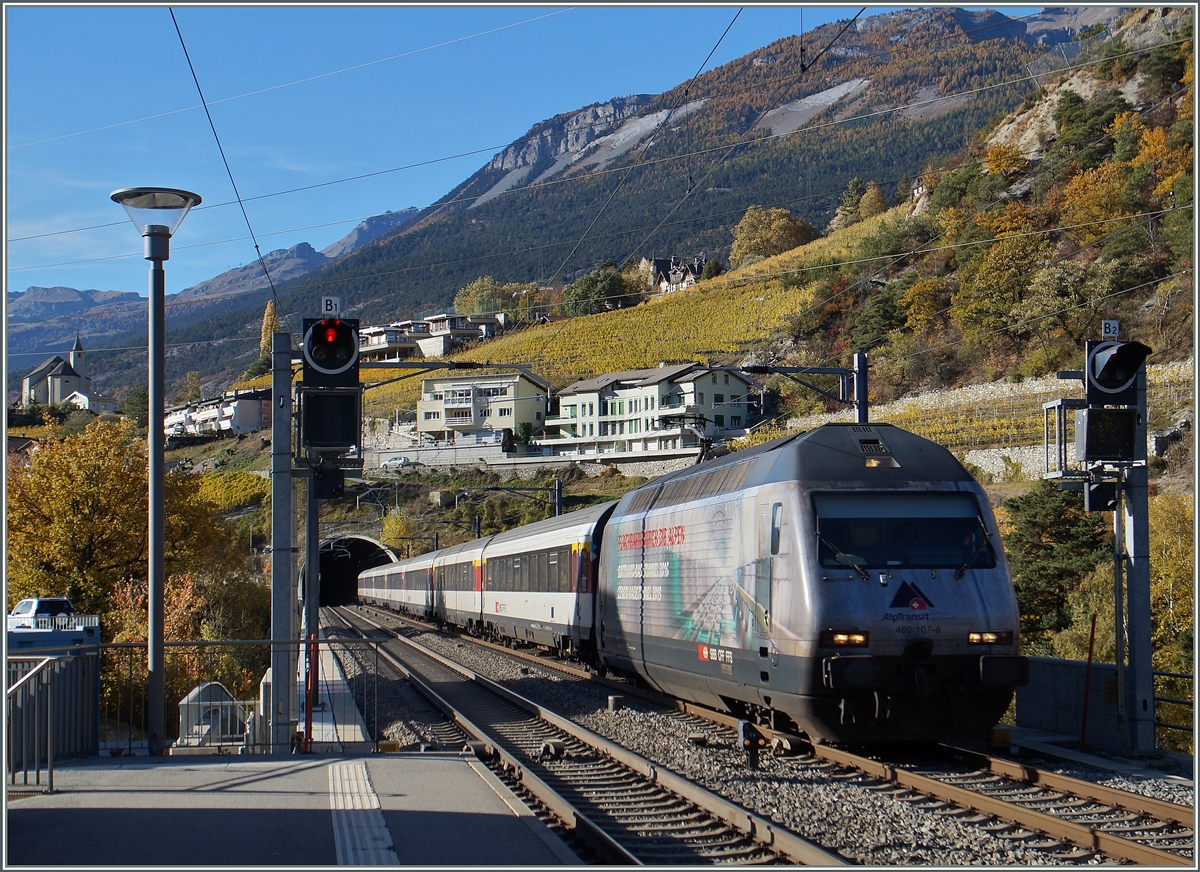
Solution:
{"label": "grey station platform with white tactile strip in the foreground", "polygon": [[566,844],[468,753],[89,758],[7,795],[8,866],[554,866]]}

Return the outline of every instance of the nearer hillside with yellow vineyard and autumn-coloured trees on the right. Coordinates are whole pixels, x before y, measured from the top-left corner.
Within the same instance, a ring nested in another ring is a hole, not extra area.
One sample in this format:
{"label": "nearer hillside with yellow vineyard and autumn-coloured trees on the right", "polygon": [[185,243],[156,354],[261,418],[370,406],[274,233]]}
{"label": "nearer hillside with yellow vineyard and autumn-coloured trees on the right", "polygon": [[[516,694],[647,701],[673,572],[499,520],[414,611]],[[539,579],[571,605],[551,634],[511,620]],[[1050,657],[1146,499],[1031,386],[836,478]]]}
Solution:
{"label": "nearer hillside with yellow vineyard and autumn-coloured trees on the right", "polygon": [[[1104,319],[1151,345],[1151,362],[1186,359],[1194,119],[1190,25],[1180,25],[1146,50],[1114,40],[1091,68],[1048,78],[994,137],[926,164],[906,204],[864,217],[869,188],[848,185],[847,225],[826,237],[458,359],[527,362],[557,386],[660,361],[845,366],[866,351],[872,402],[1078,368]],[[1007,142],[1039,124],[1028,152]],[[781,416],[821,403],[776,387]],[[368,403],[390,414],[410,390]]]}

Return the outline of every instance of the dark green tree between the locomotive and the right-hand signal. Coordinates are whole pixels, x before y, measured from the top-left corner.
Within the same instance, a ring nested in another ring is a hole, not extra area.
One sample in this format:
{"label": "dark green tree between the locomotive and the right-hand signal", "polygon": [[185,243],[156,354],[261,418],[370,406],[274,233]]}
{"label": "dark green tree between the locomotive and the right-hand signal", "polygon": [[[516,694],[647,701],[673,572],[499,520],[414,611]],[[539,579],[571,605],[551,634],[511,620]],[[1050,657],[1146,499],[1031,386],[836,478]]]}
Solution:
{"label": "dark green tree between the locomotive and the right-hand signal", "polygon": [[1039,481],[1004,503],[1004,534],[1025,642],[1048,645],[1070,625],[1068,595],[1109,553],[1099,512],[1085,512],[1082,497]]}

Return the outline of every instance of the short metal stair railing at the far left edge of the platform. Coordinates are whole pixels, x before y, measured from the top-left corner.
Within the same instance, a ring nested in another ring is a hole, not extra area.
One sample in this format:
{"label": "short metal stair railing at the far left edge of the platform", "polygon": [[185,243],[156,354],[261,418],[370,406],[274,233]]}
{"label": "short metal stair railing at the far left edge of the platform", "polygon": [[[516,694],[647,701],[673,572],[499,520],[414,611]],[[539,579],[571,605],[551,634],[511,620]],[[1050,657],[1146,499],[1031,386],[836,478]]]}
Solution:
{"label": "short metal stair railing at the far left edge of the platform", "polygon": [[[53,664],[58,657],[10,658],[10,681],[20,664],[28,672],[5,693],[5,747],[8,754],[8,786],[54,790],[54,718],[50,692]],[[46,783],[42,782],[42,766]],[[34,783],[29,772],[34,770]]]}

